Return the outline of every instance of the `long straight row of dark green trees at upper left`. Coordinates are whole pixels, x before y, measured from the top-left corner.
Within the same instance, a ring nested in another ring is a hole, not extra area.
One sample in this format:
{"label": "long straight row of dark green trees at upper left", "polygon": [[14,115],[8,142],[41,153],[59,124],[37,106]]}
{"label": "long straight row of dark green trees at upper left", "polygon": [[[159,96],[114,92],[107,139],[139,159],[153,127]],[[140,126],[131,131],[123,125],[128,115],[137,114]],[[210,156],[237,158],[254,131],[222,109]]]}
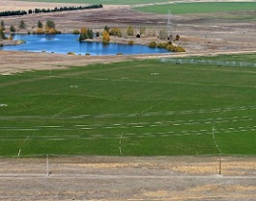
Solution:
{"label": "long straight row of dark green trees at upper left", "polygon": [[53,12],[65,12],[65,11],[76,11],[76,10],[86,10],[86,9],[100,9],[103,6],[101,4],[94,4],[90,6],[79,6],[79,7],[61,7],[61,8],[54,8],[54,9],[35,9],[26,11],[6,11],[0,12],[0,16],[12,16],[12,15],[24,15],[30,13],[53,13]]}

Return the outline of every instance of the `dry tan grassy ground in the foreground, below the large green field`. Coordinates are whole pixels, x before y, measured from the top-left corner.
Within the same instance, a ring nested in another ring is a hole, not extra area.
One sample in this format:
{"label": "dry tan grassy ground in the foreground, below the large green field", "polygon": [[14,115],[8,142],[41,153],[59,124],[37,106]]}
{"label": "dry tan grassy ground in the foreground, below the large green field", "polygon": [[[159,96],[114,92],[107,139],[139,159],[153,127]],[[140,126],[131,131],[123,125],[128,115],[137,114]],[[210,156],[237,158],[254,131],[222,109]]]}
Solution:
{"label": "dry tan grassy ground in the foreground, below the large green field", "polygon": [[255,200],[256,159],[0,160],[0,200]]}

